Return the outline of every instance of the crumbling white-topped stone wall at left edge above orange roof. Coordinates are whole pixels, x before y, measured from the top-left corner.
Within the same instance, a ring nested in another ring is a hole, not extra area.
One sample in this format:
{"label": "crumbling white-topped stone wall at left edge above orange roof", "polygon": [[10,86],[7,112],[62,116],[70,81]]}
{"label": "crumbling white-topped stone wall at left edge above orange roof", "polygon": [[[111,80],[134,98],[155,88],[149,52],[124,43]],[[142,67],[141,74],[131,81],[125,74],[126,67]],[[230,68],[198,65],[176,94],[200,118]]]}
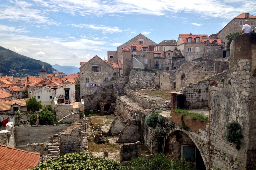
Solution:
{"label": "crumbling white-topped stone wall at left edge above orange roof", "polygon": [[0,131],[0,144],[6,145],[15,148],[16,142],[15,142],[15,129],[14,129],[14,123],[8,122],[5,126],[5,130]]}

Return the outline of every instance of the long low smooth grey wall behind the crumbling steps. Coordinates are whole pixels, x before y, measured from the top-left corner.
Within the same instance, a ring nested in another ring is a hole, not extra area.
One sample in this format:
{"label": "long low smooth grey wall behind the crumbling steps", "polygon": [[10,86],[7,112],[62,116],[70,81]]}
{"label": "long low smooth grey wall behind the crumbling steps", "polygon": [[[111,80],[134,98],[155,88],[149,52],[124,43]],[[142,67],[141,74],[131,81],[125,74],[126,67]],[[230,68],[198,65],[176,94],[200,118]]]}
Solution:
{"label": "long low smooth grey wall behind the crumbling steps", "polygon": [[69,125],[38,125],[15,127],[16,145],[27,145],[29,142],[38,143],[47,141],[48,137],[65,130]]}

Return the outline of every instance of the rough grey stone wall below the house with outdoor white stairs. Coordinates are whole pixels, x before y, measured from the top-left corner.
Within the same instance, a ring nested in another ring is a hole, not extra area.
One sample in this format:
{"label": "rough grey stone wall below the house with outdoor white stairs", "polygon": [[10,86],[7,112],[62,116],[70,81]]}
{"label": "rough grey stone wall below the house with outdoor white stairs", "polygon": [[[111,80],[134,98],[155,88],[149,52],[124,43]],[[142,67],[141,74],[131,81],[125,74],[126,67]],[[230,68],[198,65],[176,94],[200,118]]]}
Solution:
{"label": "rough grey stone wall below the house with outdoor white stairs", "polygon": [[129,75],[129,83],[126,89],[143,89],[154,87],[155,73],[147,72],[140,69],[132,69]]}

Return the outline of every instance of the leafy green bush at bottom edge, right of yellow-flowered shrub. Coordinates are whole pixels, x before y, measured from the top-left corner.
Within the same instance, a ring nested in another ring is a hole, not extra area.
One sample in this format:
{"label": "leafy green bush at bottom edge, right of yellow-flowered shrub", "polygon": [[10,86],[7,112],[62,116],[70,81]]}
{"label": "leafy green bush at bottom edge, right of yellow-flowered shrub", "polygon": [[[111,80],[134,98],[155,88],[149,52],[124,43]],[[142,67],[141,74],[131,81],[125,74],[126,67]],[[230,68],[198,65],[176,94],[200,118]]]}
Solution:
{"label": "leafy green bush at bottom edge, right of yellow-flowered shrub", "polygon": [[182,157],[181,162],[174,162],[165,158],[164,154],[156,153],[153,158],[141,156],[140,158],[132,158],[131,162],[123,167],[123,170],[196,170],[189,162]]}

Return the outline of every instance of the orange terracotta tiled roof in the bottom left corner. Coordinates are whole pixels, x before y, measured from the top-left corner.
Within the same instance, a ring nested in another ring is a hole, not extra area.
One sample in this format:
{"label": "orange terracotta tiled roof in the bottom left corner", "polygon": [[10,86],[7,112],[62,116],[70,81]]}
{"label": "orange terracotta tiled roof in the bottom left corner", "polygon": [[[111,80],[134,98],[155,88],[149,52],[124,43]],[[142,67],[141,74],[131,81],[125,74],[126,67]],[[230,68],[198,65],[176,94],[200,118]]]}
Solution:
{"label": "orange terracotta tiled roof in the bottom left corner", "polygon": [[35,167],[39,160],[40,153],[0,145],[0,169],[26,170]]}

